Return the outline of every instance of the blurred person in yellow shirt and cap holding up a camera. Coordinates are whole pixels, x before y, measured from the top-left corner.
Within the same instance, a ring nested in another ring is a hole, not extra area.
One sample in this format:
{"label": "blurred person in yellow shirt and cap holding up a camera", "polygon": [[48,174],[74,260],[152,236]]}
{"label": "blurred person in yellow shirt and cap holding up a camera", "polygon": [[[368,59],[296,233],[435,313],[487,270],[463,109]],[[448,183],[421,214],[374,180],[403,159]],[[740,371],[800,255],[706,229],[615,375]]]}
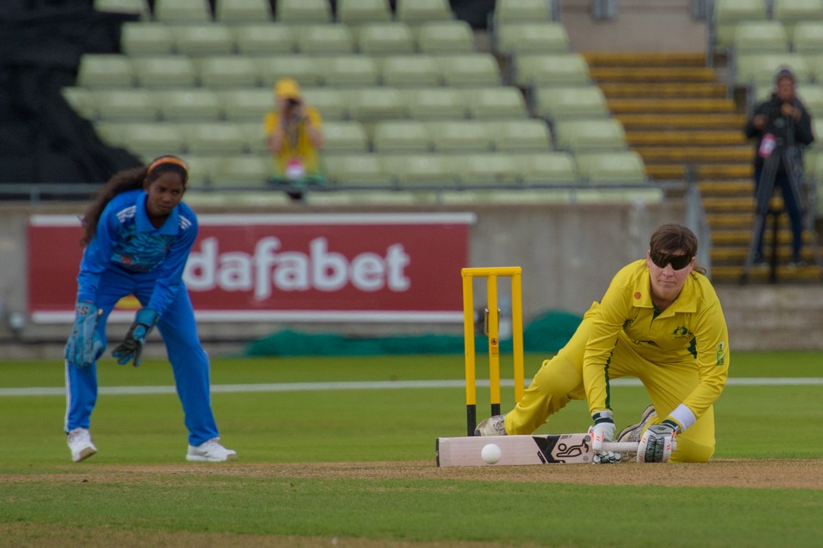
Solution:
{"label": "blurred person in yellow shirt and cap holding up a camera", "polygon": [[318,109],[305,103],[293,78],[278,80],[274,92],[277,110],[263,118],[268,149],[274,156],[272,183],[288,185],[286,193],[300,200],[307,185],[325,183],[319,158],[323,120]]}

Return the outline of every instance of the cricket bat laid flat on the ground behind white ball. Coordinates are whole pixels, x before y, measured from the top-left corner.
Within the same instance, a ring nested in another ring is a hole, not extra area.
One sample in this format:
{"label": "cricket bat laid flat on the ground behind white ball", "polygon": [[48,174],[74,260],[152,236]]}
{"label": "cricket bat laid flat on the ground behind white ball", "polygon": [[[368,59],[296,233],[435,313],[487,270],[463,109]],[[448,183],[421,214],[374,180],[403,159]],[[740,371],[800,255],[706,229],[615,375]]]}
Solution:
{"label": "cricket bat laid flat on the ground behind white ball", "polygon": [[[488,444],[500,448],[493,465],[481,457]],[[637,453],[637,442],[605,442],[603,449]],[[592,462],[592,438],[588,434],[535,434],[512,436],[465,436],[438,438],[438,467],[487,467],[523,464],[579,464]]]}

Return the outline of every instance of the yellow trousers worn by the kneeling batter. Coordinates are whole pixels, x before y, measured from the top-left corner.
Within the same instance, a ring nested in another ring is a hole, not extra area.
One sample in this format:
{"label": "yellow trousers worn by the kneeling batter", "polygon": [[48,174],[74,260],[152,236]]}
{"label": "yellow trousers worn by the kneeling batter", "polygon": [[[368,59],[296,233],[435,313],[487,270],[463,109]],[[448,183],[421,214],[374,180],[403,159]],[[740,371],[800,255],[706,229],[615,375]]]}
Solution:
{"label": "yellow trousers worn by the kneeling batter", "polygon": [[[583,355],[598,304],[585,313],[574,336],[555,357],[543,362],[523,399],[505,417],[509,434],[531,434],[571,400],[586,399],[583,384]],[[635,351],[630,341],[618,337],[609,364],[609,378],[637,377],[649,393],[660,423],[697,386],[695,365],[655,364]],[[701,416],[689,430],[677,436],[677,451],[669,462],[707,462],[714,454],[714,408]]]}

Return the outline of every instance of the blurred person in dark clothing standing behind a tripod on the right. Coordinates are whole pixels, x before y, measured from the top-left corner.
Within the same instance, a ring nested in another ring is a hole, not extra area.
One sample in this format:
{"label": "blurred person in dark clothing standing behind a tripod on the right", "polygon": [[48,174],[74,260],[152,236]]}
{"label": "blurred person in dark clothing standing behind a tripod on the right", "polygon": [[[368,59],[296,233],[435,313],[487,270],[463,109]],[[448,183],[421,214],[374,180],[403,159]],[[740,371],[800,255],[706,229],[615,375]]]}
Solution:
{"label": "blurred person in dark clothing standing behind a tripod on the right", "polygon": [[[790,266],[803,264],[802,248],[802,156],[800,146],[815,140],[811,132],[811,117],[802,102],[794,94],[795,77],[788,68],[781,68],[774,78],[775,91],[770,99],[760,103],[746,123],[746,137],[756,137],[755,146],[755,196],[764,174],[765,160],[774,157],[778,161],[774,175],[774,187],[783,193],[789,220],[792,225],[792,262]],[[768,183],[768,181],[764,181]],[[753,262],[765,265],[763,233],[765,223],[756,237]]]}

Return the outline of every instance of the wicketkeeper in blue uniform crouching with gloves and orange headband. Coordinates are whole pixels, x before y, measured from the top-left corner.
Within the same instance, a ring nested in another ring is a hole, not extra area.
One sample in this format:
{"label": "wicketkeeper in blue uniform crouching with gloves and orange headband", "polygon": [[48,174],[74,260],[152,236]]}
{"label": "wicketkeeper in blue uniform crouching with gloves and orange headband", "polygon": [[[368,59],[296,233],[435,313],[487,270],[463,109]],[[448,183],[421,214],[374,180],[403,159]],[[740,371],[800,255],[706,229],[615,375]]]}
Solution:
{"label": "wicketkeeper in blue uniform crouching with gloves and orange headband", "polygon": [[97,359],[105,351],[106,318],[127,295],[142,304],[112,355],[141,363],[157,326],[174,371],[188,429],[186,460],[221,462],[237,453],[219,442],[212,414],[209,360],[194,321],[183,271],[198,234],[197,216],[181,202],[188,167],[175,156],[115,174],[82,217],[86,248],[77,276],[77,305],[65,348],[65,431],[72,460],[97,452],[89,423],[97,400]]}

